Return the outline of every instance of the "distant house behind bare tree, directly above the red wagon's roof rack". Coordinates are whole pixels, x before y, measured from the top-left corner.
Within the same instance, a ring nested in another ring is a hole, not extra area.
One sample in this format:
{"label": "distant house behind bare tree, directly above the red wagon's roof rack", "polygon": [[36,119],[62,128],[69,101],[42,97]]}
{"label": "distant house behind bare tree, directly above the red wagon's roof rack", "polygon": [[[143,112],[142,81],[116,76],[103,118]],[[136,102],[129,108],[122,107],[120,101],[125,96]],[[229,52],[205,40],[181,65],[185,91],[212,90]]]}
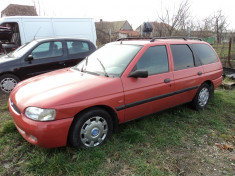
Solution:
{"label": "distant house behind bare tree, directly above the red wagon's roof rack", "polygon": [[141,24],[136,31],[140,33],[142,37],[165,37],[168,36],[169,27],[166,23],[158,23],[158,22],[148,22],[152,26],[152,32],[144,32],[145,23]]}

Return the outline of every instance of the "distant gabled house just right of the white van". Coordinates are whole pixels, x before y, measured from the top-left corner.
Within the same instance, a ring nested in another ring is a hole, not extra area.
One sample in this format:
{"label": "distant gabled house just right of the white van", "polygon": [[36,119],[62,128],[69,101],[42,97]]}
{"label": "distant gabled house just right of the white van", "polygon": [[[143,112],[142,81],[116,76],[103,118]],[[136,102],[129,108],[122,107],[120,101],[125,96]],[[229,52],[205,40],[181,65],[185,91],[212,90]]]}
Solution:
{"label": "distant gabled house just right of the white van", "polygon": [[133,31],[128,21],[107,22],[100,20],[100,22],[95,23],[95,26],[97,39],[102,44],[118,38],[139,36],[138,32]]}

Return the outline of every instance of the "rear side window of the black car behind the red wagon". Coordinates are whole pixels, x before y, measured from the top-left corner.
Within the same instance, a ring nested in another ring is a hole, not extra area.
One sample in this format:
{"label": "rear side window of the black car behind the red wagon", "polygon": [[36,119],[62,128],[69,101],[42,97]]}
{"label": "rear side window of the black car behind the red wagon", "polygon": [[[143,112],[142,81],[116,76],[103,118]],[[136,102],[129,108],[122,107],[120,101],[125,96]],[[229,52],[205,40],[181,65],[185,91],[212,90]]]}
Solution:
{"label": "rear side window of the black car behind the red wagon", "polygon": [[83,41],[67,41],[69,54],[79,54],[89,51],[89,44]]}

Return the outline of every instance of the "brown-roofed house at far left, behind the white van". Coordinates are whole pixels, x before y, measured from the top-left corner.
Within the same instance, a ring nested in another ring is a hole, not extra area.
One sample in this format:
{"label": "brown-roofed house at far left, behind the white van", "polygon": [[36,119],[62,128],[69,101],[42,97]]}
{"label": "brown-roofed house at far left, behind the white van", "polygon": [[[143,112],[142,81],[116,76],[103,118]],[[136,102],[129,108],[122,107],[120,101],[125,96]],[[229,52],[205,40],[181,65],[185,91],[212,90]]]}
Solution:
{"label": "brown-roofed house at far left, behind the white van", "polygon": [[10,4],[1,12],[1,17],[6,16],[37,16],[37,12],[34,6]]}

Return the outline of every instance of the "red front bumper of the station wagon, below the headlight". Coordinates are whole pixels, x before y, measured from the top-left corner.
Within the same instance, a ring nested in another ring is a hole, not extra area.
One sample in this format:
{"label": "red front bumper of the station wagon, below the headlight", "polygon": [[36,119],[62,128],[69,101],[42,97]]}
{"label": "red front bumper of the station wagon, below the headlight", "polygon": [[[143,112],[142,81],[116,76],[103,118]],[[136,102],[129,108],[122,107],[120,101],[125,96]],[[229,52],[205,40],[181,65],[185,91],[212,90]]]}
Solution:
{"label": "red front bumper of the station wagon, below the headlight", "polygon": [[15,111],[10,99],[8,109],[12,114],[17,130],[31,144],[44,148],[61,147],[67,144],[73,117],[48,122],[34,121],[27,118],[23,113]]}

